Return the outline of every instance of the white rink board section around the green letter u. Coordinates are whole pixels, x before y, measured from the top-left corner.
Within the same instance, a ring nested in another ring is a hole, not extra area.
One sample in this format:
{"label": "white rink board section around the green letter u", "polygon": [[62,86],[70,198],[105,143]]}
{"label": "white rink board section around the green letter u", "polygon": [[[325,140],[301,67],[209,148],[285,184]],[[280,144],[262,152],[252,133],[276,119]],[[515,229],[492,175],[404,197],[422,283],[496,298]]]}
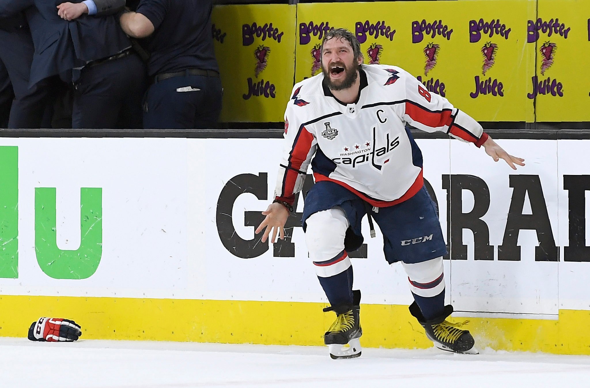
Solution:
{"label": "white rink board section around the green letter u", "polygon": [[[7,295],[168,296],[188,283],[186,139],[1,139],[18,145],[18,278]],[[180,177],[180,179],[178,179]],[[52,279],[35,257],[35,188],[55,187],[57,246],[80,245],[80,188],[103,189],[103,254],[87,279]]]}

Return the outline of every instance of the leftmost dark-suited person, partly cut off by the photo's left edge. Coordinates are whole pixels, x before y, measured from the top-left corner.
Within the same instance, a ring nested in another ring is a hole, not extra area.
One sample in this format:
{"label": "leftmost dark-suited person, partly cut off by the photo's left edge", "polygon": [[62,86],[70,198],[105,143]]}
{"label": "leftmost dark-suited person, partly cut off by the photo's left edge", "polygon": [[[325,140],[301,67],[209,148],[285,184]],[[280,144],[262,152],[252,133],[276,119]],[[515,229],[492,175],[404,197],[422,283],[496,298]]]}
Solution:
{"label": "leftmost dark-suited person, partly cut off by the photo's left edge", "polygon": [[7,128],[50,128],[50,78],[29,87],[33,41],[22,14],[0,19],[0,61],[14,90]]}

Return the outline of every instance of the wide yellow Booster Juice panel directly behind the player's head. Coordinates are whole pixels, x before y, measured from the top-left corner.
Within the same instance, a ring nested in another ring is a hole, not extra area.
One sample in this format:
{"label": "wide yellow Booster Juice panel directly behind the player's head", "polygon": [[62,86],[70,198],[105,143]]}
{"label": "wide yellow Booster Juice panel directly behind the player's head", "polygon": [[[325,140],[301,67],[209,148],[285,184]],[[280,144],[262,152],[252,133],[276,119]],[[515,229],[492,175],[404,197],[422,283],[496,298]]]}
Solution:
{"label": "wide yellow Booster Juice panel directly behind the player's head", "polygon": [[[533,121],[527,0],[411,1],[297,7],[296,81],[321,71],[330,28],[355,32],[366,64],[392,64],[480,121]],[[319,15],[329,15],[320,17]]]}

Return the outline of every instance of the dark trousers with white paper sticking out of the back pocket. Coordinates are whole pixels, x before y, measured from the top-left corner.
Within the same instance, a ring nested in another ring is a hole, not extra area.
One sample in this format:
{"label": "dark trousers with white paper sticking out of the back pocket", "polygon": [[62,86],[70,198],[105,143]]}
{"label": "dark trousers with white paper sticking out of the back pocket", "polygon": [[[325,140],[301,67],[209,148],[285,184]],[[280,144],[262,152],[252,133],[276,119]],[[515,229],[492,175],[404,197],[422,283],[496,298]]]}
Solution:
{"label": "dark trousers with white paper sticking out of the back pocket", "polygon": [[215,128],[221,112],[221,92],[217,77],[189,75],[156,82],[149,87],[143,103],[143,126]]}

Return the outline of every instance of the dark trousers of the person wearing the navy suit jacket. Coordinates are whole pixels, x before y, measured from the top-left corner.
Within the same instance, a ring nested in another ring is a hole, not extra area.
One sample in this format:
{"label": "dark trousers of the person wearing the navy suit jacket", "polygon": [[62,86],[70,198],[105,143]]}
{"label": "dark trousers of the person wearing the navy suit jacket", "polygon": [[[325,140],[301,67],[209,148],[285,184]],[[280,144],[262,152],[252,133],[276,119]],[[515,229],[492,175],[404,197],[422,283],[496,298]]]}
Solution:
{"label": "dark trousers of the person wearing the navy suit jacket", "polygon": [[145,64],[136,54],[81,70],[74,83],[72,128],[141,129]]}

